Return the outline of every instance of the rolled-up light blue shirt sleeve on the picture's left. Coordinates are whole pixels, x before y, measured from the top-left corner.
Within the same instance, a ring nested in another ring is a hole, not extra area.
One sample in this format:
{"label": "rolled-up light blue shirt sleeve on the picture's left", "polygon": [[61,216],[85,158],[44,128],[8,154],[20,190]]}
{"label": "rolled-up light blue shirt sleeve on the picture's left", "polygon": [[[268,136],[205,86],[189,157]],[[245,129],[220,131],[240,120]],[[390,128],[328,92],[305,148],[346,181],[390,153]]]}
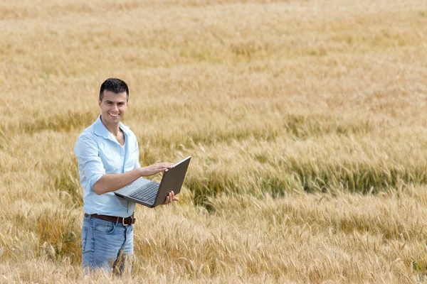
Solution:
{"label": "rolled-up light blue shirt sleeve on the picture's left", "polygon": [[97,143],[88,136],[80,136],[75,143],[74,153],[81,175],[88,180],[86,186],[89,190],[93,190],[93,185],[102,178],[102,175],[105,175]]}

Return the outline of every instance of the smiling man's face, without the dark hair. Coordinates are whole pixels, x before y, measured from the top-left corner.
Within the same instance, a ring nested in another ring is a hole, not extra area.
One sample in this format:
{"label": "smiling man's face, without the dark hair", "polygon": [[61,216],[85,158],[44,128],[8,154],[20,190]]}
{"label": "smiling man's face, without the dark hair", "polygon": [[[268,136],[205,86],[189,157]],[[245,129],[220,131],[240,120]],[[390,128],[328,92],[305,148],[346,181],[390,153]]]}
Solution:
{"label": "smiling man's face, without the dark hair", "polygon": [[127,109],[127,94],[122,92],[115,94],[110,91],[104,91],[102,102],[98,100],[101,109],[102,121],[109,124],[118,124],[120,119],[125,116]]}

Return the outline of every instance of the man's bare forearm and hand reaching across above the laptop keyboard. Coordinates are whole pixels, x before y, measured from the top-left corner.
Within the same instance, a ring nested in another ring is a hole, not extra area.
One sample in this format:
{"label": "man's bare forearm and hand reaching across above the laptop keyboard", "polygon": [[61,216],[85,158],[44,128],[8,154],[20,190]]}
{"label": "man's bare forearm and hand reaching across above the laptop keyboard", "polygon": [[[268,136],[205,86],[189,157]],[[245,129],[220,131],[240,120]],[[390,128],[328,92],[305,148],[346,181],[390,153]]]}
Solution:
{"label": "man's bare forearm and hand reaching across above the laptop keyboard", "polygon": [[131,182],[137,180],[137,178],[147,177],[149,175],[164,172],[169,168],[174,168],[174,164],[156,163],[154,165],[149,165],[148,167],[130,170],[127,173],[105,174],[102,175],[102,177],[97,182],[95,182],[95,185],[93,185],[93,191],[97,195],[102,195],[106,192],[120,190],[120,188],[125,187]]}

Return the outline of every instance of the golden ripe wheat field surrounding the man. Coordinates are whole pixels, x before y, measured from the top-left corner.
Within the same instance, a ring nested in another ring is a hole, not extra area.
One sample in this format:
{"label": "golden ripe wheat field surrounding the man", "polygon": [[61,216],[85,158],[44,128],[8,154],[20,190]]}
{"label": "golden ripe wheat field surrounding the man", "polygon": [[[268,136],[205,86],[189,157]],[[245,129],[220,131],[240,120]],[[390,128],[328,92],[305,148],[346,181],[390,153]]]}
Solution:
{"label": "golden ripe wheat field surrounding the man", "polygon": [[[108,77],[141,165],[193,159],[83,278]],[[426,102],[425,0],[0,0],[0,283],[427,283]]]}

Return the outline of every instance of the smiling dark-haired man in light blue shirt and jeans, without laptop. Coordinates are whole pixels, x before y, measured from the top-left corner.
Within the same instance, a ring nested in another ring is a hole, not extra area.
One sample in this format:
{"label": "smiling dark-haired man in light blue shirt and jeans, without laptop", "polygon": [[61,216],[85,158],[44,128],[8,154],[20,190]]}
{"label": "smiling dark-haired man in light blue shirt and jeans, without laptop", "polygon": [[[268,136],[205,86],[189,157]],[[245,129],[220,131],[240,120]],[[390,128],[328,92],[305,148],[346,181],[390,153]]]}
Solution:
{"label": "smiling dark-haired man in light blue shirt and jeans, without laptop", "polygon": [[[142,176],[173,168],[156,163],[141,168],[135,134],[120,121],[127,109],[129,89],[115,78],[102,83],[101,115],[85,129],[75,143],[80,183],[83,186],[82,266],[103,268],[107,273],[130,273],[133,255],[135,202],[114,194]],[[178,201],[169,192],[164,204]]]}

